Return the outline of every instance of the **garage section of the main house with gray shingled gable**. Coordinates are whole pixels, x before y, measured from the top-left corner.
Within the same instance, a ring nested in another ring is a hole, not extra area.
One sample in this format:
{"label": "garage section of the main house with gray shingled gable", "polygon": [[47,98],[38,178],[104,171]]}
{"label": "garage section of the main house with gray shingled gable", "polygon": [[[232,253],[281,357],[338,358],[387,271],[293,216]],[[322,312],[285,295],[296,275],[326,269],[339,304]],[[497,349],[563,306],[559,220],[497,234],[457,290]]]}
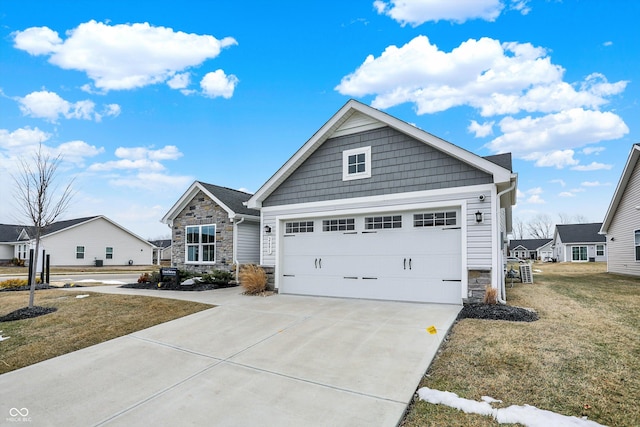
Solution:
{"label": "garage section of the main house with gray shingled gable", "polygon": [[504,297],[517,175],[351,100],[249,200],[280,293],[461,304]]}

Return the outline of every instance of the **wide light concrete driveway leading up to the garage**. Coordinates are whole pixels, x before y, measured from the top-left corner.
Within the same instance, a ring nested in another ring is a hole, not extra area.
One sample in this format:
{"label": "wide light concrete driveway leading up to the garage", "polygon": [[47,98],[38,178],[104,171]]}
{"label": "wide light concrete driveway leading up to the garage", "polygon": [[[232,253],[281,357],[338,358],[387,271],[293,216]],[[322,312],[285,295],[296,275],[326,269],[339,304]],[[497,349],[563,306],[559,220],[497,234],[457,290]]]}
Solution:
{"label": "wide light concrete driveway leading up to the garage", "polygon": [[395,426],[461,308],[86,290],[218,306],[0,375],[0,425]]}

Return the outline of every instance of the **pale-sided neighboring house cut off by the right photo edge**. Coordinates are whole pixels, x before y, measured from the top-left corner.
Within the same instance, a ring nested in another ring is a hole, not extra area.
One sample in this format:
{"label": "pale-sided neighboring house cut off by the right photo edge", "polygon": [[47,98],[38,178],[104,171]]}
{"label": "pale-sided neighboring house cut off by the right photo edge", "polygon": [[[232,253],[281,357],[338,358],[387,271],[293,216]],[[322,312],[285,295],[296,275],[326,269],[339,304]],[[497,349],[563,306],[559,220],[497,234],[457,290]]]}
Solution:
{"label": "pale-sided neighboring house cut off by the right photo edge", "polygon": [[640,144],[631,148],[600,233],[606,234],[607,271],[640,276]]}

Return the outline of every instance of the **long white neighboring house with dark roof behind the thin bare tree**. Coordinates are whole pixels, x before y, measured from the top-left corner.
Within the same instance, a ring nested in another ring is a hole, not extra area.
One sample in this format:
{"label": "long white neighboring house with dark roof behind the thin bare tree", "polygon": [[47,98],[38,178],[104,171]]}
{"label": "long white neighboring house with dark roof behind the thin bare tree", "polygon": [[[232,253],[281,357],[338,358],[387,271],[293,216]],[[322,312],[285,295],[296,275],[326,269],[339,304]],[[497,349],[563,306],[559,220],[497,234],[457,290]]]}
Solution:
{"label": "long white neighboring house with dark roof behind the thin bare tree", "polygon": [[[28,260],[34,236],[33,226],[0,224],[0,258]],[[51,265],[150,265],[153,256],[151,243],[102,215],[49,225],[40,247]]]}

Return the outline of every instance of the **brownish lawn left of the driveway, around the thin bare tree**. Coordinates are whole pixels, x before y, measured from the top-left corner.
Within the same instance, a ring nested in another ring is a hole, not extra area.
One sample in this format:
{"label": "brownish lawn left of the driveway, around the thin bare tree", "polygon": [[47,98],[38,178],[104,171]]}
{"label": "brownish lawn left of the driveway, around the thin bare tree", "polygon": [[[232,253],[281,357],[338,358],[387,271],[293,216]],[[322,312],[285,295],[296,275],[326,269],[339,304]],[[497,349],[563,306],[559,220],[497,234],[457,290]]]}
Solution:
{"label": "brownish lawn left of the driveway, around the thin bare tree", "polygon": [[[76,298],[77,295],[89,295]],[[28,291],[0,292],[0,316],[25,307]],[[0,374],[211,308],[190,301],[62,290],[36,291],[44,316],[0,323]]]}

